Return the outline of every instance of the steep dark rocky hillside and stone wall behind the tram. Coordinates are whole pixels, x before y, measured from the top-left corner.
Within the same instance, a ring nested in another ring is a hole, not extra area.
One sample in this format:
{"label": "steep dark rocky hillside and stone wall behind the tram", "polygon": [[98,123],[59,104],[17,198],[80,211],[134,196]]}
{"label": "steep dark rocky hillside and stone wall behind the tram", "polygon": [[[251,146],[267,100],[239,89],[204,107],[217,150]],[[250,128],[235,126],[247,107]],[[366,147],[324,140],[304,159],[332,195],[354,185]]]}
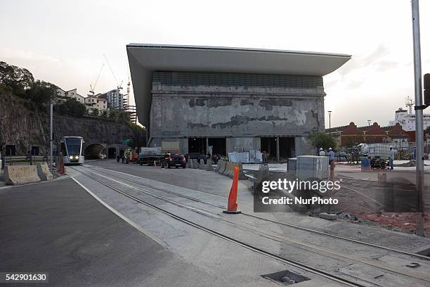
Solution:
{"label": "steep dark rocky hillside and stone wall behind the tram", "polygon": [[[32,110],[33,109],[33,110]],[[45,155],[49,141],[48,113],[32,108],[31,103],[0,89],[0,141],[14,144],[17,155],[26,155],[29,146],[39,146]],[[54,151],[62,136],[83,136],[85,144],[121,144],[133,139],[128,125],[95,117],[65,117],[54,114]]]}

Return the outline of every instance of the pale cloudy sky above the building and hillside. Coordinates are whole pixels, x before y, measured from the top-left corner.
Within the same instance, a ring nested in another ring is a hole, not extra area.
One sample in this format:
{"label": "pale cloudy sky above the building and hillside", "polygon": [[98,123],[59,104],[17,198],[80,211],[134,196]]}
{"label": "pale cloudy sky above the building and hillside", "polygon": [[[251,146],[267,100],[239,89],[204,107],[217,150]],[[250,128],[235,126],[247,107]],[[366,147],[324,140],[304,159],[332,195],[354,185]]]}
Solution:
{"label": "pale cloudy sky above the building and hillside", "polygon": [[[420,17],[424,74],[429,0],[420,1]],[[126,44],[156,43],[351,54],[324,79],[332,127],[387,125],[414,96],[410,0],[0,0],[0,27],[0,60],[82,95],[96,81],[103,54],[126,87]],[[96,92],[116,85],[105,65]]]}

